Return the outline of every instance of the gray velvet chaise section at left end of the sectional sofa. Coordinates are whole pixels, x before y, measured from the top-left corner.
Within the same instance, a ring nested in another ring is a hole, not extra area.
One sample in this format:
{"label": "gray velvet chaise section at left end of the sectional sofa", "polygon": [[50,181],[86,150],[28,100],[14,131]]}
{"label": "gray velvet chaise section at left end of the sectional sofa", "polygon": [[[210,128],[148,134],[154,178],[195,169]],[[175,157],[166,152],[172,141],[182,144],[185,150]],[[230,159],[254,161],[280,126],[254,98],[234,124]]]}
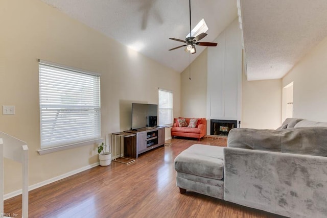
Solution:
{"label": "gray velvet chaise section at left end of the sectional sofa", "polygon": [[223,147],[193,144],[175,159],[176,183],[186,190],[224,199]]}

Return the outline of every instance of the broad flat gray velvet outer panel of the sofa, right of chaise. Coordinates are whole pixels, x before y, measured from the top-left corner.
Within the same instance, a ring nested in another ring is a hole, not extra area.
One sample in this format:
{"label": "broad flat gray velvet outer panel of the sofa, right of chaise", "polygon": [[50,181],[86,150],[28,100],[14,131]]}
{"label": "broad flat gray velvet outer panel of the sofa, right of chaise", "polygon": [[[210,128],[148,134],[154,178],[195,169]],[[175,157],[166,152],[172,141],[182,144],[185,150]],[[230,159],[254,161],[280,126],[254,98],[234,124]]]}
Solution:
{"label": "broad flat gray velvet outer panel of the sofa, right of chaise", "polygon": [[224,200],[285,216],[326,217],[327,157],[224,148]]}

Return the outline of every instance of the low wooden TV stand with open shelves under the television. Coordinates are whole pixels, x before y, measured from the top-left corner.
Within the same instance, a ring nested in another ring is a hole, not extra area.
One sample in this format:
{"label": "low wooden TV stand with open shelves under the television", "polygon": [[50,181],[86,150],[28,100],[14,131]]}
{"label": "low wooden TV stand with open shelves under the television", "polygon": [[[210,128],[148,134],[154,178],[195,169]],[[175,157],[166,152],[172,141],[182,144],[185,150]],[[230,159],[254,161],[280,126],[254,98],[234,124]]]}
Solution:
{"label": "low wooden TV stand with open shelves under the television", "polygon": [[147,127],[136,131],[136,137],[124,138],[124,156],[137,158],[139,154],[165,145],[165,127]]}

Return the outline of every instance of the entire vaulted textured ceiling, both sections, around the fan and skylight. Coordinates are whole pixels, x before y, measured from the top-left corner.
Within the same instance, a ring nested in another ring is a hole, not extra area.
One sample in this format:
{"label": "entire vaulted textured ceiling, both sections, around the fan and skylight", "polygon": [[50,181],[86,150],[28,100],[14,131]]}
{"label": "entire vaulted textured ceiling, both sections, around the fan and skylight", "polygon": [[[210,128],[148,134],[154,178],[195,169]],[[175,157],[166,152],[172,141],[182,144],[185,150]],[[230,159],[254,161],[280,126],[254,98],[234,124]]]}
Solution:
{"label": "entire vaulted textured ceiling, both sections, around the fan and skylight", "polygon": [[[190,64],[188,0],[41,0],[178,72]],[[326,0],[191,0],[192,28],[204,18],[212,42],[237,15],[248,80],[278,79],[327,36]],[[219,45],[218,45],[219,46]],[[204,46],[197,46],[194,60]]]}

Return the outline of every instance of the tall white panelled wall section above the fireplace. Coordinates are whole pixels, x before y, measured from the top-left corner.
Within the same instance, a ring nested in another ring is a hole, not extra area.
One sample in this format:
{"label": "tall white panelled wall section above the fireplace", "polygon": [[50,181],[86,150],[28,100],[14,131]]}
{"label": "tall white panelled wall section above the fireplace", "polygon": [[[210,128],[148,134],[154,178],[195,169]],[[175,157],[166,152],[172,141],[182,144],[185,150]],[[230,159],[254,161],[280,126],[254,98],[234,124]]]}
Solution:
{"label": "tall white panelled wall section above the fireplace", "polygon": [[208,47],[206,117],[240,120],[242,44],[238,19],[215,42],[217,47]]}

